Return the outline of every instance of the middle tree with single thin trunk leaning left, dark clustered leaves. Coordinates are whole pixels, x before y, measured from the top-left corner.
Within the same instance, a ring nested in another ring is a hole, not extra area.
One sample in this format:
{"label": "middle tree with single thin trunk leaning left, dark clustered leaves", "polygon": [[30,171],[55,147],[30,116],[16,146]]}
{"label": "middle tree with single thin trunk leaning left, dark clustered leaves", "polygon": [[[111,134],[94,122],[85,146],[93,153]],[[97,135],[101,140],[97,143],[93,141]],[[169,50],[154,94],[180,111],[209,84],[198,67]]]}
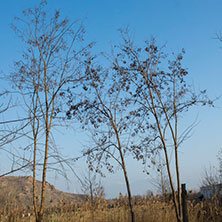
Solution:
{"label": "middle tree with single thin trunk leaning left, dark clustered leaves", "polygon": [[93,59],[88,61],[88,85],[84,86],[85,101],[81,108],[71,106],[68,114],[79,116],[83,127],[91,132],[93,141],[84,151],[89,168],[103,174],[102,168],[105,165],[108,171],[113,173],[114,163],[117,163],[122,170],[133,222],[132,194],[125,156],[129,151],[129,144],[134,144],[134,123],[138,116],[128,107],[129,98],[123,96],[124,82],[100,66],[93,67]]}

